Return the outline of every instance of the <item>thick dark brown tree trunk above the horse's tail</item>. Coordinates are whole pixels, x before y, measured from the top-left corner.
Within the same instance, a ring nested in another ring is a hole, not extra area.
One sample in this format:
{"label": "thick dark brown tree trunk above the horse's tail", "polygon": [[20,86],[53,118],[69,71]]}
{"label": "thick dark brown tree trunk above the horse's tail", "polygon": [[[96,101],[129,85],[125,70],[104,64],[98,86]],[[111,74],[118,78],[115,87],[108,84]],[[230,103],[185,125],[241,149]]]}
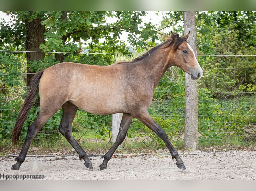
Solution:
{"label": "thick dark brown tree trunk above the horse's tail", "polygon": [[[30,15],[33,14],[33,11],[30,11]],[[27,52],[27,64],[36,61],[36,60],[43,60],[45,54],[42,53],[41,49],[39,48],[40,44],[45,43],[44,41],[44,32],[45,26],[41,25],[41,18],[35,18],[32,21],[27,18],[25,20],[25,26],[27,30],[26,36],[26,50],[27,51],[35,51],[35,52]],[[27,86],[30,86],[31,79],[34,76],[33,73],[38,71],[31,71],[30,67],[27,67]]]}

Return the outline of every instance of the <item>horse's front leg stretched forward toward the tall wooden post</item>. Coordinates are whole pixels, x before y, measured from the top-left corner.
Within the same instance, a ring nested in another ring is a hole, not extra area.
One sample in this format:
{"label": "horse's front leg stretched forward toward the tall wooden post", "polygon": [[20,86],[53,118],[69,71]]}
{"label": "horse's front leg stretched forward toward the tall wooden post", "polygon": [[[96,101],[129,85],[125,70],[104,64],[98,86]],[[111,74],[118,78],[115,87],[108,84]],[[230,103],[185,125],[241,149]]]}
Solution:
{"label": "horse's front leg stretched forward toward the tall wooden post", "polygon": [[180,158],[178,152],[171,144],[170,140],[168,139],[168,136],[166,132],[152,119],[152,117],[149,115],[147,110],[140,111],[139,114],[136,116],[138,120],[140,120],[144,125],[146,125],[148,128],[150,128],[154,133],[156,133],[165,143],[167,148],[169,149],[172,159],[176,159],[176,165],[178,168],[185,170],[186,167],[184,165],[184,162]]}

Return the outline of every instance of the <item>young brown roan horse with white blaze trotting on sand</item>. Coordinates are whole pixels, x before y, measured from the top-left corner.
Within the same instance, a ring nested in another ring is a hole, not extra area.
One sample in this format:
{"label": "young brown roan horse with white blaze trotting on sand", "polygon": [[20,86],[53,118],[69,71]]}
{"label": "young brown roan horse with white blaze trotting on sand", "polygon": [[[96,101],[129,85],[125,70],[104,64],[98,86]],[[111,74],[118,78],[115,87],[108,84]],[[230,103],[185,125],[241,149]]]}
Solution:
{"label": "young brown roan horse with white blaze trotting on sand", "polygon": [[186,41],[189,35],[190,32],[184,37],[179,37],[177,33],[171,32],[171,36],[164,43],[131,62],[109,66],[63,62],[38,72],[33,78],[13,129],[14,145],[18,143],[22,126],[37,96],[39,79],[40,112],[28,128],[25,142],[16,158],[17,163],[12,169],[20,168],[32,139],[61,107],[63,115],[59,131],[77,151],[80,160],[84,159],[84,165],[89,169],[93,169],[92,163],[71,133],[78,108],[101,115],[123,113],[116,142],[102,156],[104,160],[100,170],[107,168],[108,161],[123,142],[132,118],[137,118],[155,132],[166,144],[172,159],[176,159],[177,167],[186,169],[165,131],[149,115],[148,108],[157,84],[169,67],[175,65],[181,68],[190,74],[192,79],[202,77],[203,71]]}

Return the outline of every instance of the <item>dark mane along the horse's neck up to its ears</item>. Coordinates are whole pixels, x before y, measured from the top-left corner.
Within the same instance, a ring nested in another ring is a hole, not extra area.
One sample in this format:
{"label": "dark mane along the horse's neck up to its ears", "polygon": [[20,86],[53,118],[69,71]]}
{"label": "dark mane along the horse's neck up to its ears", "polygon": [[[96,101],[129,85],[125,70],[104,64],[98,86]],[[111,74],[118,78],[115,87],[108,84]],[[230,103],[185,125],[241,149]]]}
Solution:
{"label": "dark mane along the horse's neck up to its ears", "polygon": [[173,34],[175,36],[174,40],[172,39],[171,36],[166,38],[166,41],[164,41],[163,43],[161,43],[160,45],[157,45],[153,48],[151,48],[149,51],[145,52],[143,55],[134,58],[131,61],[119,61],[116,64],[121,64],[121,63],[134,63],[137,62],[139,60],[144,59],[145,57],[147,57],[148,55],[150,55],[152,52],[154,52],[156,49],[158,48],[167,48],[171,45],[173,45],[172,49],[173,51],[177,50],[177,48],[181,45],[182,42],[186,41],[183,37],[179,37],[178,33],[174,33]]}

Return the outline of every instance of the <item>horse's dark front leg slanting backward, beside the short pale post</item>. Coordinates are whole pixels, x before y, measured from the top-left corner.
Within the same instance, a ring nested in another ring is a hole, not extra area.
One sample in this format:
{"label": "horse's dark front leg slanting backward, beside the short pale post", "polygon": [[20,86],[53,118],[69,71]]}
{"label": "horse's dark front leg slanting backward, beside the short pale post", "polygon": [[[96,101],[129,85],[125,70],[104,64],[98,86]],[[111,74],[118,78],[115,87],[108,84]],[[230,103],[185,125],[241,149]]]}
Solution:
{"label": "horse's dark front leg slanting backward, beside the short pale post", "polygon": [[100,165],[100,170],[104,170],[107,168],[108,161],[111,159],[111,157],[113,156],[113,154],[116,151],[116,149],[118,148],[118,146],[120,144],[122,144],[122,142],[124,141],[126,133],[128,131],[128,128],[129,128],[131,122],[132,122],[131,115],[124,113],[122,120],[121,120],[119,132],[118,132],[118,135],[116,138],[116,142],[112,145],[112,147],[109,149],[109,151],[104,156],[101,157],[101,158],[104,158],[104,160],[103,160],[102,164]]}

